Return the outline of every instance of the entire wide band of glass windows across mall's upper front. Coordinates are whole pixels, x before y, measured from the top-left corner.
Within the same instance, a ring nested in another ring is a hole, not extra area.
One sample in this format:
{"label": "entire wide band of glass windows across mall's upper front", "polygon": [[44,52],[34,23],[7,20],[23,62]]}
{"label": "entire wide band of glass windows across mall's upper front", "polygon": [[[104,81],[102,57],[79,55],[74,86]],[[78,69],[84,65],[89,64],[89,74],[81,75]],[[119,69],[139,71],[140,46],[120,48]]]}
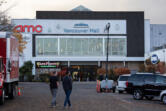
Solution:
{"label": "entire wide band of glass windows across mall's upper front", "polygon": [[[59,56],[103,56],[103,37],[99,38],[63,38],[59,39]],[[106,55],[106,39],[105,55]],[[58,56],[58,38],[36,38],[37,56]],[[105,56],[104,55],[104,56]],[[109,39],[109,55],[126,55],[126,38]]]}

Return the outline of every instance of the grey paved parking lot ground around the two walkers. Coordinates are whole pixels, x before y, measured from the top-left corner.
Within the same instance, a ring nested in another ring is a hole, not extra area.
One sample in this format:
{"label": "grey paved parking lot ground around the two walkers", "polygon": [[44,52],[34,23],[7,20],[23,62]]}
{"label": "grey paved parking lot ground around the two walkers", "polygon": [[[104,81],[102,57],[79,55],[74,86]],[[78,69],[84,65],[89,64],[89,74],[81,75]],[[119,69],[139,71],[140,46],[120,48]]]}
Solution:
{"label": "grey paved parking lot ground around the two walkers", "polygon": [[[63,111],[64,92],[58,90],[56,108],[49,108],[51,94],[46,83],[20,83],[22,96],[6,100],[0,111]],[[97,93],[95,82],[74,82],[70,111],[166,111],[158,100],[133,100],[132,95]]]}

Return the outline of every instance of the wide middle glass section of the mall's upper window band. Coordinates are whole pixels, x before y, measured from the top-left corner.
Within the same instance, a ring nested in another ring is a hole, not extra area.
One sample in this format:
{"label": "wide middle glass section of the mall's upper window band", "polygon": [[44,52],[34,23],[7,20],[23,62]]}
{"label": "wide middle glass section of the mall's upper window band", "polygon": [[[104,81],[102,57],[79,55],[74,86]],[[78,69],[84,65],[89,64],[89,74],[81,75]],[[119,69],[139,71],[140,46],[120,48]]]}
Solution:
{"label": "wide middle glass section of the mall's upper window band", "polygon": [[102,38],[61,38],[61,56],[102,56]]}

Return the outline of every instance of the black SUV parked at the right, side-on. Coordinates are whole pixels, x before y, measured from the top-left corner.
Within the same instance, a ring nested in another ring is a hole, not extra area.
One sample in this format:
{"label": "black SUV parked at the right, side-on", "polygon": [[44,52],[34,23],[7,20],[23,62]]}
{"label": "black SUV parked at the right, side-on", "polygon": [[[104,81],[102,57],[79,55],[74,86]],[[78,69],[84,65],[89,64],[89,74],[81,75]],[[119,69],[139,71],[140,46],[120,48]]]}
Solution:
{"label": "black SUV parked at the right, side-on", "polygon": [[166,89],[166,76],[160,74],[133,74],[126,82],[127,92],[133,94],[133,98],[140,100],[145,97],[148,100],[159,96]]}

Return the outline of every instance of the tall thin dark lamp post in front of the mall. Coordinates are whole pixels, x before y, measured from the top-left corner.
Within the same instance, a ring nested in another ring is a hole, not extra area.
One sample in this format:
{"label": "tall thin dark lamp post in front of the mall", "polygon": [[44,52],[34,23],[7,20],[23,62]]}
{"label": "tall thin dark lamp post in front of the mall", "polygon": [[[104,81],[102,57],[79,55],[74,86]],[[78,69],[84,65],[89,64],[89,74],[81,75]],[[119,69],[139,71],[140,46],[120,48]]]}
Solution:
{"label": "tall thin dark lamp post in front of the mall", "polygon": [[106,80],[108,80],[109,29],[110,29],[110,23],[108,22],[105,27],[105,30],[107,31],[106,78],[105,78]]}

